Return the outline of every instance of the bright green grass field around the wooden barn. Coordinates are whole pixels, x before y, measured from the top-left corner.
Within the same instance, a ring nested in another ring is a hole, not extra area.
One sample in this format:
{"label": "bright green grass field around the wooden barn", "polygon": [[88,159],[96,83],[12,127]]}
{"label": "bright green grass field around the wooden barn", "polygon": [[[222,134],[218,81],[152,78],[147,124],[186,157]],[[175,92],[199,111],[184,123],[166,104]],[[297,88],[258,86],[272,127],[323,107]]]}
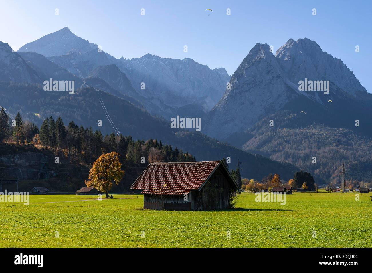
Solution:
{"label": "bright green grass field around the wooden barn", "polygon": [[280,205],[243,193],[226,211],[143,210],[142,195],[31,195],[29,205],[0,203],[0,247],[372,247],[369,195],[295,193]]}

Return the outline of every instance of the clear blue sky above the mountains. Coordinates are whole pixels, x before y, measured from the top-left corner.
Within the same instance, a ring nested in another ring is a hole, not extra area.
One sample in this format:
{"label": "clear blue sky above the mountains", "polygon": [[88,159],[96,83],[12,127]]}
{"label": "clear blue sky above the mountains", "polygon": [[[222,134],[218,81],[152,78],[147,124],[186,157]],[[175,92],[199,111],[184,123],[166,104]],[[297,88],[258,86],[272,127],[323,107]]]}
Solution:
{"label": "clear blue sky above the mountains", "polygon": [[[256,42],[273,45],[276,51],[289,38],[307,37],[343,60],[372,92],[371,7],[372,1],[367,0],[0,0],[0,40],[17,50],[67,26],[116,58],[131,59],[146,53],[188,57],[212,69],[223,67],[232,75]],[[55,8],[60,15],[54,14]],[[144,16],[140,15],[142,8]],[[183,52],[185,45],[187,53]]]}

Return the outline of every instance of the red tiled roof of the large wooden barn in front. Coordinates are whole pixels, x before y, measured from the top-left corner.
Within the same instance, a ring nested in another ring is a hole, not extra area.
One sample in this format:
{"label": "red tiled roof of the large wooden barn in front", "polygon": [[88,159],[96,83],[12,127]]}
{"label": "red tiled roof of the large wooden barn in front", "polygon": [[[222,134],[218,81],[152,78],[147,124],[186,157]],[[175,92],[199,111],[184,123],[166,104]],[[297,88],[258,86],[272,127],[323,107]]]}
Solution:
{"label": "red tiled roof of the large wooden barn in front", "polygon": [[220,162],[152,163],[130,189],[142,190],[144,194],[188,194],[190,190],[199,190]]}

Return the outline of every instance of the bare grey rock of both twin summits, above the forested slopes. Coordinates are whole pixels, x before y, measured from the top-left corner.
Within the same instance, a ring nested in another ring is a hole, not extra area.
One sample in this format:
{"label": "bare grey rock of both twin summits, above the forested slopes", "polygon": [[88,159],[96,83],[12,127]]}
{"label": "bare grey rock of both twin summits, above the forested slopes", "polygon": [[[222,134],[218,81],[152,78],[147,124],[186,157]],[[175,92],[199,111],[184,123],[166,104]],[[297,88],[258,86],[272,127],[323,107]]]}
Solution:
{"label": "bare grey rock of both twin summits, above the forested slopes", "polygon": [[[325,80],[330,92],[299,91],[299,81]],[[337,97],[366,92],[352,71],[323,52],[315,41],[289,39],[274,56],[267,44],[257,43],[234,72],[231,89],[208,115],[204,133],[218,139],[249,129],[298,96],[325,104]]]}

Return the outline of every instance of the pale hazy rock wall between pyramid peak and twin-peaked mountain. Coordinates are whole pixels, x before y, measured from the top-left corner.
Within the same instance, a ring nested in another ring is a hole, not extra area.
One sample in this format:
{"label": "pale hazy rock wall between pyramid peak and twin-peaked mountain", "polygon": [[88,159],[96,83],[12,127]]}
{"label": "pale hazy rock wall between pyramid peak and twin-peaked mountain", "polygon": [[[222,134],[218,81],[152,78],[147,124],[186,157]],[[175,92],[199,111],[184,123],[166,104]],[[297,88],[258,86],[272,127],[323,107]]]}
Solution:
{"label": "pale hazy rock wall between pyramid peak and twin-peaked mountain", "polygon": [[[119,68],[138,93],[176,108],[197,103],[211,109],[230,80],[224,68],[209,69],[188,58],[164,59],[146,54],[131,60],[122,58],[120,62]],[[145,89],[141,89],[142,82]]]}

